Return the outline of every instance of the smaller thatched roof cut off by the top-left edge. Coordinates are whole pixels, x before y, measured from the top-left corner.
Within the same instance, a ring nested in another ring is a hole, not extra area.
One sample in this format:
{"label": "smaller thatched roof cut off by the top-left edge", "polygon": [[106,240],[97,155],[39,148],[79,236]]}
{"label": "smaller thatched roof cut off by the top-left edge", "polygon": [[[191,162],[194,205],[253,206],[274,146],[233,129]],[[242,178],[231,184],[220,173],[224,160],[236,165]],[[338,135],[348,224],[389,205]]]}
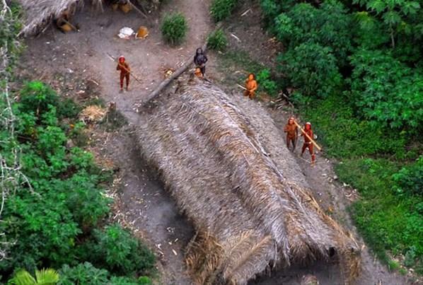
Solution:
{"label": "smaller thatched roof cut off by the top-left edge", "polygon": [[[21,30],[22,35],[33,35],[58,18],[64,11],[75,13],[83,6],[83,0],[18,0],[25,11],[26,21]],[[91,4],[101,10],[103,0],[90,0]]]}

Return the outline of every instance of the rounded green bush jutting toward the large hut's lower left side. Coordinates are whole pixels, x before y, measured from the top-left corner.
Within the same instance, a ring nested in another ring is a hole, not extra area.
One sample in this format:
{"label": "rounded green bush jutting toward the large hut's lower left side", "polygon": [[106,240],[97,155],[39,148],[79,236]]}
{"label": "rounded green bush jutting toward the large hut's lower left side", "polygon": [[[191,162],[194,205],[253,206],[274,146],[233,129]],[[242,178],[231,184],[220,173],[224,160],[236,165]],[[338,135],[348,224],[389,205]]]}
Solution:
{"label": "rounded green bush jutting toward the large hut's lower left side", "polygon": [[149,272],[156,259],[139,240],[133,238],[120,225],[106,226],[104,231],[94,231],[95,244],[91,245],[95,258],[93,264],[107,264],[111,272],[133,274]]}

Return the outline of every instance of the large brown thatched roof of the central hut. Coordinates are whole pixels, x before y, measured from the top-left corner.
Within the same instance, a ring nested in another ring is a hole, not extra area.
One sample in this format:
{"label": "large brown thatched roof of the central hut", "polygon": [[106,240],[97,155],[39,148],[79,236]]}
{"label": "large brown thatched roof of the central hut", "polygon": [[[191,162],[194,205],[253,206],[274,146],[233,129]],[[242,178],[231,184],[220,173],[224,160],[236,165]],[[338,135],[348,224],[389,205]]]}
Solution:
{"label": "large brown thatched roof of the central hut", "polygon": [[146,160],[192,220],[195,284],[246,284],[269,264],[329,260],[345,281],[359,268],[354,239],[325,215],[267,112],[191,80],[141,117]]}

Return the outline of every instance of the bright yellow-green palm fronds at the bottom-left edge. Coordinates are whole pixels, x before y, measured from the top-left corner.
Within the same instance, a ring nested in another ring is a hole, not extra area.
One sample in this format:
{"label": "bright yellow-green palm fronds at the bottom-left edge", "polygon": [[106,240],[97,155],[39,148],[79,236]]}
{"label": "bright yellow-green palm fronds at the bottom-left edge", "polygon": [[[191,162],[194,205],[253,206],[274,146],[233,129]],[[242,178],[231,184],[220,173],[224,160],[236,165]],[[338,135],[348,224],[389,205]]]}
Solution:
{"label": "bright yellow-green palm fronds at the bottom-left edge", "polygon": [[59,274],[54,269],[35,270],[35,278],[24,269],[14,274],[8,281],[10,285],[55,285],[59,281]]}

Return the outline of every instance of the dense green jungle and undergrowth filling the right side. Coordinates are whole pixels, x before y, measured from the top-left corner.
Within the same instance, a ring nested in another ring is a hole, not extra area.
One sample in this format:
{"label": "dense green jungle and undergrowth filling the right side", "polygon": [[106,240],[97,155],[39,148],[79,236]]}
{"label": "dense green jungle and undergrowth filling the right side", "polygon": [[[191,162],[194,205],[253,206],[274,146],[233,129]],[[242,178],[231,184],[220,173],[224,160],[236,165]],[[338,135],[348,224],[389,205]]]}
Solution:
{"label": "dense green jungle and undergrowth filling the right side", "polygon": [[260,4],[284,45],[277,83],[361,194],[359,231],[391,269],[423,274],[423,1]]}

